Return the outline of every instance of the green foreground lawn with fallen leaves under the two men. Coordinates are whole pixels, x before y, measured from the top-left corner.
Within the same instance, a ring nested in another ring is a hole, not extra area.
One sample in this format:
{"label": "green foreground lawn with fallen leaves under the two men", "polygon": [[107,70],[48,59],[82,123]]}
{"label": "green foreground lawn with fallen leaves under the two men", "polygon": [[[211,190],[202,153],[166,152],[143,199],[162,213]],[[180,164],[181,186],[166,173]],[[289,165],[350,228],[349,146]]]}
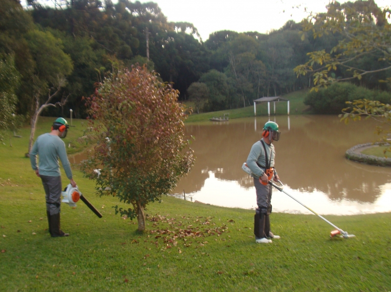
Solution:
{"label": "green foreground lawn with fallen leaves under the two men", "polygon": [[[41,134],[52,120],[41,119]],[[1,292],[391,291],[390,213],[326,216],[357,236],[348,240],[330,239],[332,228],[315,215],[273,213],[272,229],[282,238],[261,245],[254,211],[164,196],[148,206],[140,234],[135,221],[111,208],[124,204],[94,195],[93,182],[74,168],[103,218],[82,202],[76,209],[63,204],[62,229],[70,236],[51,238],[43,187],[24,158],[27,130],[14,147],[0,145]],[[68,183],[63,172],[63,187]],[[192,235],[182,238],[183,230]]]}

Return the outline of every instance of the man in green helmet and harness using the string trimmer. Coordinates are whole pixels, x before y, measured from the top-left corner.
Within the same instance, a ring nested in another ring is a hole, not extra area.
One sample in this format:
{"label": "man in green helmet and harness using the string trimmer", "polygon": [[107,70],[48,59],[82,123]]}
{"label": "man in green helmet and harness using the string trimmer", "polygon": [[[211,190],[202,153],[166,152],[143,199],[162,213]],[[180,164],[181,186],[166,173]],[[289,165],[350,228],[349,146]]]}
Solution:
{"label": "man in green helmet and harness using the string trimmer", "polygon": [[254,178],[254,186],[257,193],[258,209],[254,216],[254,234],[257,243],[271,243],[269,238],[279,239],[280,236],[274,235],[270,231],[269,215],[272,212],[270,204],[272,198],[272,186],[268,181],[272,178],[278,181],[280,178],[274,169],[274,151],[273,141],[280,139],[281,132],[278,130],[278,124],[268,121],[263,126],[262,138],[251,147],[250,154],[247,157],[246,165],[251,170],[251,176]]}

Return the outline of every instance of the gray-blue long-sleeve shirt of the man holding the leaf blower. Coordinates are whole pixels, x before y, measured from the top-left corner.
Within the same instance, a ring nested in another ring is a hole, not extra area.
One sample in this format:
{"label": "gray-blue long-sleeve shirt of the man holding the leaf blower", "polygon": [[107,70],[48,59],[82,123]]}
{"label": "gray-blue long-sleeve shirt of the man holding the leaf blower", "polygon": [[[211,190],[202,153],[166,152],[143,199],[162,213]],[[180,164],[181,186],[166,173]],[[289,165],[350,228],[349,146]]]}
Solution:
{"label": "gray-blue long-sleeve shirt of the man holding the leaf blower", "polygon": [[[37,155],[39,165],[37,167]],[[66,156],[65,143],[59,136],[43,134],[37,138],[30,152],[30,162],[33,170],[39,169],[40,175],[60,176],[59,159],[63,164],[66,176],[71,179],[72,171]]]}

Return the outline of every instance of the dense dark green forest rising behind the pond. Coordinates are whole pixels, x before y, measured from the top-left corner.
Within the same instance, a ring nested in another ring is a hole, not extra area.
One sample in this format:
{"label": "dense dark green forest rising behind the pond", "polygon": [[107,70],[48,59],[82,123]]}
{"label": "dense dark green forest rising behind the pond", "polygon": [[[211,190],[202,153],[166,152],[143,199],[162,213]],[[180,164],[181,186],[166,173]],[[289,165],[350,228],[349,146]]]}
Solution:
{"label": "dense dark green forest rising behind the pond", "polygon": [[[172,82],[179,101],[195,110],[217,111],[249,106],[260,97],[279,96],[313,86],[311,75],[293,69],[308,60],[307,52],[330,52],[344,37],[339,33],[303,38],[302,23],[287,21],[267,34],[218,31],[202,40],[188,22],[169,22],[156,3],[119,0],[18,0],[0,2],[2,70],[14,76],[16,113],[32,117],[49,97],[60,107],[46,107],[43,116],[87,117],[85,101],[95,83],[109,72],[139,63]],[[373,1],[356,1],[356,5]],[[351,66],[374,71],[375,56]],[[8,67],[7,67],[8,66]],[[389,90],[390,70],[351,79],[368,89]],[[332,78],[353,76],[335,70]],[[9,81],[9,80],[8,80]],[[2,84],[8,81],[2,81]],[[10,83],[10,82],[8,82]],[[66,103],[64,102],[66,100]]]}

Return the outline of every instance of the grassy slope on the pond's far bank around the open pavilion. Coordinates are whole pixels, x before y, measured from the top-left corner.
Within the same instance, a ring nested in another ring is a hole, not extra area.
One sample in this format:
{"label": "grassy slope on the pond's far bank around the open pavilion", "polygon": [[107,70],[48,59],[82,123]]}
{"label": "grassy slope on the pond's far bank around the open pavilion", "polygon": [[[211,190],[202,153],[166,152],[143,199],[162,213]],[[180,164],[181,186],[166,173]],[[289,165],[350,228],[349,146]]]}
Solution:
{"label": "grassy slope on the pond's far bank around the open pavilion", "polygon": [[[308,90],[299,90],[282,96],[283,98],[289,99],[290,115],[298,115],[303,113],[310,113],[308,111],[308,106],[304,105],[304,97]],[[187,106],[192,106],[192,103],[185,102]],[[258,103],[256,106],[257,116],[267,116],[267,102]],[[270,103],[270,113],[274,114],[273,102]],[[229,114],[229,118],[239,118],[239,117],[254,117],[254,105],[233,109],[233,110],[224,110],[210,113],[196,114],[193,113],[186,119],[186,122],[200,122],[200,121],[209,121],[212,117],[222,117],[224,114]],[[276,115],[286,115],[287,114],[287,102],[280,101],[276,102]]]}

